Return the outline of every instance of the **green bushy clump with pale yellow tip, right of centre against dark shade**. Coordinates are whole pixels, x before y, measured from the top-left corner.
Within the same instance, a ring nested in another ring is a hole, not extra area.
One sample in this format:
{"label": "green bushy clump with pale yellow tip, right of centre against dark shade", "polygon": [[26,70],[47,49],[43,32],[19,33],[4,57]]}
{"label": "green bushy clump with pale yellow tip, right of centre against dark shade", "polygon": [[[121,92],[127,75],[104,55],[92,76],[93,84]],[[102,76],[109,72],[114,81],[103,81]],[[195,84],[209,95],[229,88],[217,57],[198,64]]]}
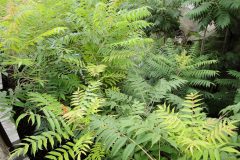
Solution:
{"label": "green bushy clump with pale yellow tip, right of centre against dark shade", "polygon": [[216,64],[217,60],[199,53],[197,44],[185,50],[168,41],[156,53],[147,53],[130,69],[125,88],[148,104],[167,99],[181,106],[181,98],[191,92],[201,91],[205,97],[211,97],[211,93],[204,89],[215,86],[211,79],[218,75],[218,71],[209,66]]}

